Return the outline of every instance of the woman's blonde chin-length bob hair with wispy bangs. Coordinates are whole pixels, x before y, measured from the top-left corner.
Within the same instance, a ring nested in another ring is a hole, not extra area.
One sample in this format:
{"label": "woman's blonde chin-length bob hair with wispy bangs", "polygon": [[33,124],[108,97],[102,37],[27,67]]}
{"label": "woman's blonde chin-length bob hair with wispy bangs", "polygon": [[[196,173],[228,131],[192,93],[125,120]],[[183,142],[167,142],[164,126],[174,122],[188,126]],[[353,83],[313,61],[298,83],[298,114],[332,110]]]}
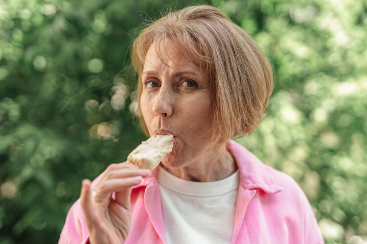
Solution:
{"label": "woman's blonde chin-length bob hair with wispy bangs", "polygon": [[[272,66],[243,29],[209,5],[168,13],[140,32],[131,54],[138,74],[139,106],[146,53],[152,44],[160,46],[167,38],[177,42],[211,81],[212,142],[251,133],[264,117],[273,91]],[[149,136],[142,116],[139,122]]]}

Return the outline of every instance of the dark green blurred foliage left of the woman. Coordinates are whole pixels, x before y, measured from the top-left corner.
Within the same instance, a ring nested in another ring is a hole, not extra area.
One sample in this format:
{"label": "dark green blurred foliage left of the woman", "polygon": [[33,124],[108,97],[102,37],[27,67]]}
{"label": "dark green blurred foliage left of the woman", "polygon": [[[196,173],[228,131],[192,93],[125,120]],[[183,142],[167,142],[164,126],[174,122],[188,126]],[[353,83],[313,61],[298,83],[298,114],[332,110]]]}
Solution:
{"label": "dark green blurred foliage left of the woman", "polygon": [[81,180],[144,139],[129,45],[168,3],[0,2],[0,243],[56,243]]}

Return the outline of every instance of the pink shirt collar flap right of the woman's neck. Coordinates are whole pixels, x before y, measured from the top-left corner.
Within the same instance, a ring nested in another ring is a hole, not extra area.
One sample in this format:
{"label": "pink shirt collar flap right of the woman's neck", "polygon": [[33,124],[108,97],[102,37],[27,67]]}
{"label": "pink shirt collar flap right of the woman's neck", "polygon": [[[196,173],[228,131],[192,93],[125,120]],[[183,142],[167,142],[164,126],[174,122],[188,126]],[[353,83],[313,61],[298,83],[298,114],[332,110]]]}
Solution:
{"label": "pink shirt collar flap right of the woman's neck", "polygon": [[229,141],[227,149],[232,154],[240,171],[240,182],[248,189],[259,188],[266,193],[281,191],[281,187],[272,181],[270,167],[262,163],[241,144]]}

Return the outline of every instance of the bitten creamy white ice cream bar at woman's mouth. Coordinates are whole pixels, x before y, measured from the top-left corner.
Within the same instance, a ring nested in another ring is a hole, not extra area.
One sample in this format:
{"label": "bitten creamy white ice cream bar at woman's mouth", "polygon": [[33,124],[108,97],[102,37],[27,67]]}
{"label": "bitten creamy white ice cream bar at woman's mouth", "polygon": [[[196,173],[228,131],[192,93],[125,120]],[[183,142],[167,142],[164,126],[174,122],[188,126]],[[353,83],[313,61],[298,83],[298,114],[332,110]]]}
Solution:
{"label": "bitten creamy white ice cream bar at woman's mouth", "polygon": [[162,159],[172,151],[173,135],[153,135],[141,142],[127,157],[130,163],[138,168],[154,169]]}

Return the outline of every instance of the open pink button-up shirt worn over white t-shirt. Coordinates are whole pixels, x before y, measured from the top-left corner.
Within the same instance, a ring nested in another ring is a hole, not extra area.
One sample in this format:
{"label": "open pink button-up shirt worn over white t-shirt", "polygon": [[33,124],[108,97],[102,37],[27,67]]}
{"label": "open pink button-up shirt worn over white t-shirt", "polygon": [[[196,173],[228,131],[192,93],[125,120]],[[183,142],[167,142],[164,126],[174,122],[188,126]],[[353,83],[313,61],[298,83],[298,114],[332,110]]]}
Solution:
{"label": "open pink button-up shirt worn over white t-shirt", "polygon": [[[306,196],[288,175],[261,163],[242,145],[229,151],[240,172],[231,244],[323,244]],[[165,244],[157,169],[133,188],[132,223],[125,244]],[[93,184],[95,184],[94,180]],[[59,244],[88,242],[79,200],[69,210]]]}

